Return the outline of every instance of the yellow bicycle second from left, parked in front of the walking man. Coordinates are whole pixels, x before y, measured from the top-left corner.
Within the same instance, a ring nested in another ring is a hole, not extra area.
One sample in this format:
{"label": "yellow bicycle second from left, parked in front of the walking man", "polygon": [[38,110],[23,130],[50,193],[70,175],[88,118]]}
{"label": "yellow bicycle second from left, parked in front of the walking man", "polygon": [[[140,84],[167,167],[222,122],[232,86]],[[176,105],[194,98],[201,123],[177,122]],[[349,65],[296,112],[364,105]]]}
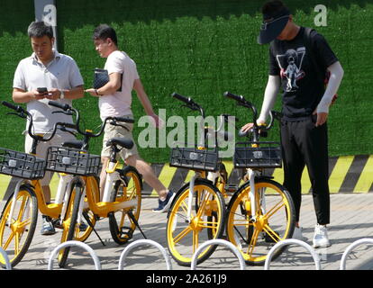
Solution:
{"label": "yellow bicycle second from left, parked in front of the walking man", "polygon": [[[75,169],[79,167],[79,164],[89,163],[92,157],[87,153],[89,139],[102,135],[107,122],[114,126],[121,126],[124,129],[127,128],[123,126],[123,123],[134,122],[129,118],[107,117],[103,121],[100,130],[94,133],[92,130],[80,129],[80,116],[77,109],[68,104],[55,102],[50,102],[50,105],[56,106],[65,112],[75,114],[77,132],[84,136],[84,140],[70,142],[68,149],[55,148],[56,151],[51,153],[55,157],[48,158],[48,166],[55,166],[55,169],[59,169],[59,171]],[[96,181],[91,177],[86,178],[84,182],[77,181],[71,185],[72,189],[76,191],[76,198],[74,199],[68,235],[77,235],[79,233],[79,227],[83,220],[81,215],[85,215],[82,203],[83,199],[86,199],[86,205],[94,214],[95,220],[108,218],[112,238],[116,243],[122,245],[132,238],[136,228],[146,238],[138,223],[141,211],[142,179],[141,174],[133,166],[124,166],[122,169],[118,168],[119,162],[117,155],[123,148],[132,148],[132,140],[113,138],[107,141],[107,146],[110,146],[111,155],[108,166],[104,167],[107,176],[102,200],[100,197],[96,197],[96,193],[93,193],[95,190],[92,187],[96,185]],[[66,157],[71,157],[71,155],[74,156],[72,161],[67,161]],[[76,165],[71,166],[70,162],[74,162]],[[68,251],[67,248],[64,250]]]}

